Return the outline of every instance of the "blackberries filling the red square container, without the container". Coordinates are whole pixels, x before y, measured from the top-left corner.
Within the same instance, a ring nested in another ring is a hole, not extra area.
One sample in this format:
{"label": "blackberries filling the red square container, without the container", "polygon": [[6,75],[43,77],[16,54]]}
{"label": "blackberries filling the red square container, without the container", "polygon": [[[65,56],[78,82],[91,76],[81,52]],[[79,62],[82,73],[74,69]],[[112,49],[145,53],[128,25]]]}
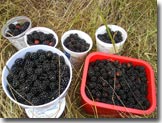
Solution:
{"label": "blackberries filling the red square container, without the container", "polygon": [[94,101],[146,110],[147,78],[143,66],[111,60],[91,62],[86,95]]}

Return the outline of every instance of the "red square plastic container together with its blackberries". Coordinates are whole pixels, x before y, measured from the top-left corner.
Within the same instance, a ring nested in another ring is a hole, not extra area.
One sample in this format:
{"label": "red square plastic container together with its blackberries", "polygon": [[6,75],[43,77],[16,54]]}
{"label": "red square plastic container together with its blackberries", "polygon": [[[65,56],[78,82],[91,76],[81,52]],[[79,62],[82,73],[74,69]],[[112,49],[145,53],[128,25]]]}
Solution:
{"label": "red square plastic container together with its blackberries", "polygon": [[80,88],[88,114],[149,115],[156,108],[154,71],[146,61],[94,52],[87,56]]}

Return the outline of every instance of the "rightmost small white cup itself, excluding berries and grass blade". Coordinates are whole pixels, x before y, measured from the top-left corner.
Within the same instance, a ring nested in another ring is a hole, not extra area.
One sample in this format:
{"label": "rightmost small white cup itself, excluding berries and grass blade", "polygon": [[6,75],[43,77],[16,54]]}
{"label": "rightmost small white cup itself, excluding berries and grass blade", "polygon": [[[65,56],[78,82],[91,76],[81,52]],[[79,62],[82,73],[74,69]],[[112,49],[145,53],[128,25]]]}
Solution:
{"label": "rightmost small white cup itself, excluding berries and grass blade", "polygon": [[[127,39],[127,32],[120,26],[117,25],[108,25],[108,27],[112,30],[112,31],[120,31],[122,34],[122,38],[123,40],[119,43],[115,43],[115,48],[116,48],[116,53],[119,53],[122,48],[123,45]],[[97,45],[97,51],[99,52],[104,52],[104,53],[109,53],[109,54],[115,54],[115,49],[113,47],[113,44],[110,43],[105,43],[103,41],[101,41],[97,36],[99,34],[104,34],[106,33],[106,27],[105,25],[100,26],[95,33],[95,37],[96,37],[96,45]]]}

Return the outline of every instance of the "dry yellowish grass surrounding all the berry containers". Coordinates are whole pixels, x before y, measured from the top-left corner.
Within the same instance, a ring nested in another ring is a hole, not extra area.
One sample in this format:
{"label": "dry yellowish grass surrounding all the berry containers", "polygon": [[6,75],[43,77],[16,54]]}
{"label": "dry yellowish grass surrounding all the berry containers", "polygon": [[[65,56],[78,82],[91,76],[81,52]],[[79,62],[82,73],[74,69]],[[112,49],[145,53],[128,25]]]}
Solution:
{"label": "dry yellowish grass surrounding all the berry containers", "polygon": [[[121,55],[148,61],[155,71],[157,85],[157,2],[156,0],[1,0],[0,28],[11,17],[25,15],[34,26],[53,29],[59,36],[69,29],[87,32],[94,41],[95,30],[102,24],[97,6],[109,24],[117,24],[128,32],[128,39]],[[60,44],[58,45],[60,47]],[[0,35],[0,76],[6,61],[17,50]],[[83,67],[83,66],[82,66]],[[74,71],[74,77],[67,95],[66,111],[63,118],[98,118],[88,115],[80,104],[79,87],[82,69]],[[6,97],[0,84],[0,117],[27,117],[24,110]],[[107,116],[109,117],[109,116]],[[123,117],[143,118],[129,115]],[[157,110],[146,118],[157,118]]]}

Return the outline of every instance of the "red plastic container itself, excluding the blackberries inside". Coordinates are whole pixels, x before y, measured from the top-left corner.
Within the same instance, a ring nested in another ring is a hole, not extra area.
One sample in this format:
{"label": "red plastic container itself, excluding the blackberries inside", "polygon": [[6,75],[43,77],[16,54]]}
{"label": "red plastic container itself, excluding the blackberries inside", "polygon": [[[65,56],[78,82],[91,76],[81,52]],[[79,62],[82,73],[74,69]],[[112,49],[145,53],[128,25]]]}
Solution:
{"label": "red plastic container itself, excluding the blackberries inside", "polygon": [[[148,79],[147,98],[150,102],[150,107],[147,110],[139,110],[139,109],[134,109],[134,108],[126,108],[123,106],[106,104],[102,102],[95,102],[86,96],[85,88],[86,88],[86,80],[87,80],[87,72],[88,72],[89,64],[90,62],[93,62],[96,60],[103,60],[103,59],[118,60],[121,63],[131,62],[133,65],[140,65],[140,66],[145,67],[146,76]],[[143,60],[130,58],[130,57],[105,54],[101,52],[94,52],[94,53],[89,54],[85,60],[80,93],[82,97],[83,108],[89,114],[97,113],[98,115],[111,115],[114,117],[120,117],[119,112],[124,112],[126,114],[128,113],[128,114],[137,114],[137,115],[148,115],[148,114],[151,114],[156,108],[155,78],[154,78],[154,72],[153,72],[152,67]]]}

